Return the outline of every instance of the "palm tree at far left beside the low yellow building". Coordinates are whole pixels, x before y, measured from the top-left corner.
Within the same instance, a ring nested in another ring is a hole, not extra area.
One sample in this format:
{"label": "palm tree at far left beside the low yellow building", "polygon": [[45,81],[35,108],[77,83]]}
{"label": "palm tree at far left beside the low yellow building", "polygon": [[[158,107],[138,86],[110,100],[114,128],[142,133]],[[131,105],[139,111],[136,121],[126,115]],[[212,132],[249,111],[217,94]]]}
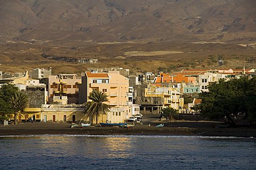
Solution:
{"label": "palm tree at far left beside the low yellow building", "polygon": [[14,112],[14,125],[16,124],[17,116],[23,115],[22,110],[28,107],[28,96],[20,91],[14,92],[10,100]]}

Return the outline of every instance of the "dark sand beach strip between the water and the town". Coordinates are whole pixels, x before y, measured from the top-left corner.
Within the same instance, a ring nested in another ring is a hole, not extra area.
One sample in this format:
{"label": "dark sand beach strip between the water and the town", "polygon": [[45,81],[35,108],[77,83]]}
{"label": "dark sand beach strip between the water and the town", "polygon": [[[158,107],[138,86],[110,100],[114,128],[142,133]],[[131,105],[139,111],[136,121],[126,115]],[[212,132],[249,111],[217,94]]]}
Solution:
{"label": "dark sand beach strip between the water and the town", "polygon": [[17,125],[0,126],[0,135],[200,135],[200,136],[236,136],[256,137],[253,128],[215,128],[214,122],[172,122],[165,127],[137,124],[132,128],[120,127],[73,127],[67,123],[19,123]]}

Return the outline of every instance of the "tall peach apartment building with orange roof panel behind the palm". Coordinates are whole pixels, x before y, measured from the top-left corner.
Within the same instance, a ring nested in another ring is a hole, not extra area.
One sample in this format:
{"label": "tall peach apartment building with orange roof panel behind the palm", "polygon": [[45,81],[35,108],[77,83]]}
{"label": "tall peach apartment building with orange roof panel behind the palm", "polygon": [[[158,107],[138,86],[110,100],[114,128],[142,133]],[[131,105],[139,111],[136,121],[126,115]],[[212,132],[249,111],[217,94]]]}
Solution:
{"label": "tall peach apartment building with orange roof panel behind the palm", "polygon": [[88,96],[92,91],[107,93],[110,112],[99,122],[111,121],[122,123],[132,115],[129,111],[129,79],[119,74],[119,71],[109,72],[84,72],[82,85],[79,88],[79,103],[89,101]]}

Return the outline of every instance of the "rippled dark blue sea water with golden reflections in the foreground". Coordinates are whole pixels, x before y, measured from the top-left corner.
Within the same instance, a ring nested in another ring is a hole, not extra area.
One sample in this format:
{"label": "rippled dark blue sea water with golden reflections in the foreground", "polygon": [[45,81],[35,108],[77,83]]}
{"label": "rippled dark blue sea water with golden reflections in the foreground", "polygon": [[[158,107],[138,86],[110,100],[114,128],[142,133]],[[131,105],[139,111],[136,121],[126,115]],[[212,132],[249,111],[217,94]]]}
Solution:
{"label": "rippled dark blue sea water with golden reflections in the foreground", "polygon": [[0,169],[256,169],[256,139],[0,136]]}

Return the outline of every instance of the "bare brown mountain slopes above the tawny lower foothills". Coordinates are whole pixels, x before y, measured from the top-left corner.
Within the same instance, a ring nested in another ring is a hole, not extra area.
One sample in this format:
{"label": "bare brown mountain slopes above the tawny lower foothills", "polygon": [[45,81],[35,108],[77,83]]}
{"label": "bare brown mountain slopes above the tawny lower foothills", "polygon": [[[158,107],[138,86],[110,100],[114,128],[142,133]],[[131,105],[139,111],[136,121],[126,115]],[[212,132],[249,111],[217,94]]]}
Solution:
{"label": "bare brown mountain slopes above the tawny lower foothills", "polygon": [[2,0],[0,36],[39,41],[255,40],[253,0]]}

